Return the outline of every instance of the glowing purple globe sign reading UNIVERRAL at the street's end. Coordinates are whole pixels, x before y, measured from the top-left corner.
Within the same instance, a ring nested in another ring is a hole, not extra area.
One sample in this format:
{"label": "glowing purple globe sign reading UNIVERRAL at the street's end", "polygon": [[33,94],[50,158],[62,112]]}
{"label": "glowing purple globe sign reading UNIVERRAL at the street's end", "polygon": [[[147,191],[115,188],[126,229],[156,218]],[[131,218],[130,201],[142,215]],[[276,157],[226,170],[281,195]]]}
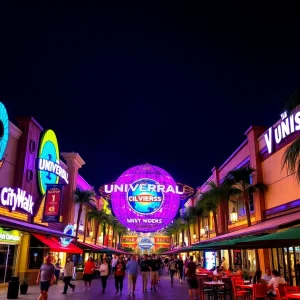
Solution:
{"label": "glowing purple globe sign reading UNIVERRAL at the street's end", "polygon": [[124,172],[114,184],[100,188],[119,221],[137,232],[163,229],[175,218],[180,199],[193,189],[176,184],[165,170],[150,164]]}

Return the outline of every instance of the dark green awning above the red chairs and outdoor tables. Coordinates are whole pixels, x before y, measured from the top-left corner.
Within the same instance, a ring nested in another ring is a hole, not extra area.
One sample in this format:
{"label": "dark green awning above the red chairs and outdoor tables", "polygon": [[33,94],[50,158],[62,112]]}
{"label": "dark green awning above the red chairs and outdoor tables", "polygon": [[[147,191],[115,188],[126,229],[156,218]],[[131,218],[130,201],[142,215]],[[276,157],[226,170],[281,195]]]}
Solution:
{"label": "dark green awning above the red chairs and outdoor tables", "polygon": [[300,227],[289,228],[276,233],[271,233],[261,237],[252,237],[250,240],[242,242],[243,247],[252,248],[272,248],[290,247],[300,245]]}

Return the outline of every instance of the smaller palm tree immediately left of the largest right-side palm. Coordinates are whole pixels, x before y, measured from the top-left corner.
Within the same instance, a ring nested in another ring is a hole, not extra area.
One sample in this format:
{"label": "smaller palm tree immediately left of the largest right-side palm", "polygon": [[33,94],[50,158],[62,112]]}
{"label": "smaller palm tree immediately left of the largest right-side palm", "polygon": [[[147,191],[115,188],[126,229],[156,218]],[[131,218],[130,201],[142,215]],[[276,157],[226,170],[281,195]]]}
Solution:
{"label": "smaller palm tree immediately left of the largest right-side palm", "polygon": [[215,233],[216,236],[219,235],[219,228],[218,228],[218,220],[217,220],[217,209],[221,202],[220,198],[218,197],[218,194],[215,193],[215,190],[213,186],[215,185],[214,182],[209,182],[208,185],[211,187],[207,191],[203,192],[200,196],[200,204],[203,206],[203,209],[212,212],[213,214],[213,220],[214,220],[214,226],[215,226]]}

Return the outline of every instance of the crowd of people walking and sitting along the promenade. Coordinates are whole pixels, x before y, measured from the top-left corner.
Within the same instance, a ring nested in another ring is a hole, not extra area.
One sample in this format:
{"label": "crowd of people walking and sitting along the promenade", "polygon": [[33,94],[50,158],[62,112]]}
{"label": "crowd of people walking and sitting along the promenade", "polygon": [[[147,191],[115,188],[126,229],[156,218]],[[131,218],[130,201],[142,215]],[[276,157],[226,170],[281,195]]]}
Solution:
{"label": "crowd of people walking and sitting along the promenade", "polygon": [[[71,283],[74,275],[74,264],[71,258],[68,257],[64,267],[61,266],[61,261],[58,260],[55,264],[53,258],[48,255],[45,262],[40,268],[37,277],[37,283],[40,284],[41,294],[39,300],[47,300],[49,287],[58,282],[59,272],[63,269],[64,289],[63,294],[67,294],[70,287],[74,292],[76,286]],[[59,272],[58,272],[59,271]],[[191,256],[183,261],[182,257],[166,257],[162,259],[160,256],[153,255],[131,255],[131,256],[113,256],[112,259],[103,257],[100,263],[94,262],[92,257],[89,257],[84,265],[83,281],[84,291],[90,290],[92,280],[96,273],[100,274],[102,283],[102,293],[105,293],[107,287],[107,279],[109,276],[114,277],[114,285],[116,294],[122,295],[123,281],[125,276],[128,277],[128,295],[134,296],[138,275],[141,277],[142,291],[147,292],[148,289],[157,292],[157,286],[163,274],[169,275],[170,285],[174,286],[174,278],[178,278],[182,284],[184,280],[189,286],[190,299],[199,297],[197,274],[211,273],[215,278],[230,277],[232,275],[242,276],[241,268],[237,268],[235,272],[228,267],[224,257],[222,264],[213,268],[213,270],[204,269],[201,264],[196,264]],[[253,283],[267,284],[270,295],[276,295],[275,289],[279,283],[285,283],[284,278],[280,277],[278,271],[268,268],[266,274],[262,275],[261,271],[257,271],[253,277]]]}

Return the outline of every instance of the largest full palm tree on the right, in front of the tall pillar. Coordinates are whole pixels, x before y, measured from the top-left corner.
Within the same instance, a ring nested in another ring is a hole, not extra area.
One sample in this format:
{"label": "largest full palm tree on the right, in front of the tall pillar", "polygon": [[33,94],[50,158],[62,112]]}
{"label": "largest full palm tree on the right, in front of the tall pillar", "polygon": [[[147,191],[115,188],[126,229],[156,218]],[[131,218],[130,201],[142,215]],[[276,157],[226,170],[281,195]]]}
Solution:
{"label": "largest full palm tree on the right, in front of the tall pillar", "polygon": [[251,214],[250,214],[250,197],[256,191],[263,191],[267,186],[263,183],[252,183],[252,176],[255,169],[251,167],[243,167],[240,169],[232,170],[226,175],[226,180],[231,183],[232,195],[243,200],[245,209],[247,224],[251,226]]}

